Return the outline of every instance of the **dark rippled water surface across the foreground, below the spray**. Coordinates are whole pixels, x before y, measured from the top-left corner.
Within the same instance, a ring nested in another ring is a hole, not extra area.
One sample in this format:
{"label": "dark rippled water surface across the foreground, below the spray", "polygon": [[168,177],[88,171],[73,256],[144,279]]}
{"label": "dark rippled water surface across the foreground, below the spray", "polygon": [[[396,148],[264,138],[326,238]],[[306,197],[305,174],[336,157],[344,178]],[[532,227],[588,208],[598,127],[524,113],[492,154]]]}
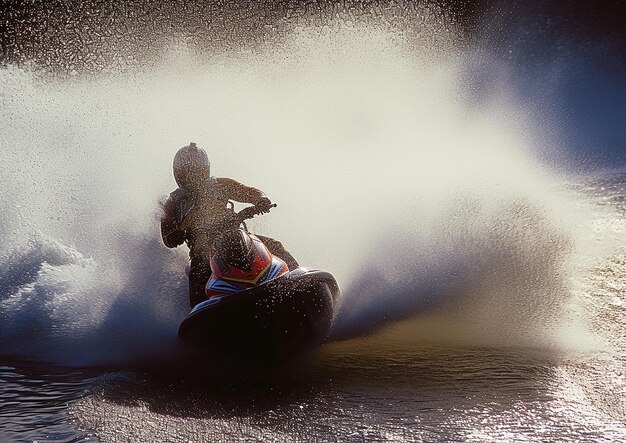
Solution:
{"label": "dark rippled water surface across the foreground, below the spray", "polygon": [[120,442],[619,441],[626,435],[623,404],[602,398],[618,382],[603,370],[610,361],[602,368],[597,358],[427,345],[364,357],[358,346],[340,348],[327,350],[314,368],[263,383],[224,385],[210,375],[34,377],[5,367],[3,378],[16,380],[3,395],[19,403],[4,406],[2,435]]}

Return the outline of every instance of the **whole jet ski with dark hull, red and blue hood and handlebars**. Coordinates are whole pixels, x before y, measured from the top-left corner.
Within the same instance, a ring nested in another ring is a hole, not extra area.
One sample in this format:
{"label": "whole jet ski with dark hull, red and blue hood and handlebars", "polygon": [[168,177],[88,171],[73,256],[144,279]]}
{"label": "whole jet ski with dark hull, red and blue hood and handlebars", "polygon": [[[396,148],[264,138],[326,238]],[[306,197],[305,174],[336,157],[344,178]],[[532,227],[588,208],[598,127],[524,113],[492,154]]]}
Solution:
{"label": "whole jet ski with dark hull, red and blue hood and handlebars", "polygon": [[178,337],[220,361],[275,366],[324,342],[339,286],[328,272],[289,269],[271,254],[245,226],[260,212],[233,213],[231,229],[214,244],[207,299],[182,321]]}

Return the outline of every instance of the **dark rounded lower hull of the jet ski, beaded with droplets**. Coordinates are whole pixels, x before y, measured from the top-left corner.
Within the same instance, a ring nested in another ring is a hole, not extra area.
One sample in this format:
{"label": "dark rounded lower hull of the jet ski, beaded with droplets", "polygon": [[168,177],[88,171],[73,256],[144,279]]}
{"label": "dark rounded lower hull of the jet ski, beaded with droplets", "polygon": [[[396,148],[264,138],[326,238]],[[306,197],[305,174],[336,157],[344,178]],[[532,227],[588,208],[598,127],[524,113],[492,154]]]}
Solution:
{"label": "dark rounded lower hull of the jet ski, beaded with droplets", "polygon": [[280,363],[327,338],[338,295],[328,272],[297,268],[199,303],[181,323],[178,336],[222,360]]}

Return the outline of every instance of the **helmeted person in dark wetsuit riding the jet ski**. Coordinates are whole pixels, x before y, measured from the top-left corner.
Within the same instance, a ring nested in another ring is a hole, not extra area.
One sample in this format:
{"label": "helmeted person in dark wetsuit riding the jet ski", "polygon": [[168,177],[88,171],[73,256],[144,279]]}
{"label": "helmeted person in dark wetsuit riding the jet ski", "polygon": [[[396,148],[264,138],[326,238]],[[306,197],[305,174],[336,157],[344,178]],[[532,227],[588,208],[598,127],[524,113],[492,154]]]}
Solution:
{"label": "helmeted person in dark wetsuit riding the jet ski", "polygon": [[[189,269],[189,302],[191,306],[205,299],[204,287],[211,276],[210,258],[213,242],[220,233],[220,223],[232,217],[229,200],[251,203],[262,213],[269,212],[272,202],[259,189],[231,178],[212,177],[209,159],[202,148],[190,143],[174,157],[174,178],[178,189],[163,205],[161,237],[168,248],[187,242]],[[223,226],[223,224],[222,224]],[[270,252],[283,259],[289,269],[298,262],[283,245],[269,237],[257,235]]]}

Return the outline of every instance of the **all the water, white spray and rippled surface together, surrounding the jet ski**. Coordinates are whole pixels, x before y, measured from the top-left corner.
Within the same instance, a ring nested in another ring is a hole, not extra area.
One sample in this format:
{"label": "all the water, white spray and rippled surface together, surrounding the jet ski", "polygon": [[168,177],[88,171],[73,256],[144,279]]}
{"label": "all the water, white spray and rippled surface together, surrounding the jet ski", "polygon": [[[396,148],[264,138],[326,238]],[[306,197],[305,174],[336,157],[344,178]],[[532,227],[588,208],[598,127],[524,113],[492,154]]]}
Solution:
{"label": "all the water, white spray and rippled surface together, surrounding the jet ski", "polygon": [[[554,128],[470,93],[507,66],[432,13],[0,69],[0,441],[626,440],[624,171],[546,166]],[[157,202],[189,141],[279,203],[253,230],[337,277],[308,363],[224,379],[177,343]]]}

